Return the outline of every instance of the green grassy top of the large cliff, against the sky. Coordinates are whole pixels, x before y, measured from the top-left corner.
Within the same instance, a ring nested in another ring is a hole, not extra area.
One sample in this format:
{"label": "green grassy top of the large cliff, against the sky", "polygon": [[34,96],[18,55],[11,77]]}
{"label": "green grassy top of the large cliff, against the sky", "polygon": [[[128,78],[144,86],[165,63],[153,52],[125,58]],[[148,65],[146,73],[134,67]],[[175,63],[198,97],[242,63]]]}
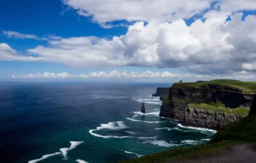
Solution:
{"label": "green grassy top of the large cliff, against the sky", "polygon": [[256,92],[256,82],[243,82],[239,80],[210,80],[203,81],[201,83],[174,83],[175,87],[204,87],[207,85],[218,85],[221,89],[224,86],[232,87],[234,89],[241,90],[242,92],[255,93]]}

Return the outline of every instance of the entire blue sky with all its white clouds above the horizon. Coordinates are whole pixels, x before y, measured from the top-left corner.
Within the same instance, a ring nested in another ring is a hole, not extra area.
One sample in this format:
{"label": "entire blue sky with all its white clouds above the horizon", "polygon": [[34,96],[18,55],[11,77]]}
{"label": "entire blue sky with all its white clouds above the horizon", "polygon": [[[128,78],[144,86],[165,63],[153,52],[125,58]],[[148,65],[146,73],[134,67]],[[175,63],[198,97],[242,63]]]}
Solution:
{"label": "entire blue sky with all its white clouds above the horizon", "polygon": [[0,82],[256,80],[255,0],[2,0]]}

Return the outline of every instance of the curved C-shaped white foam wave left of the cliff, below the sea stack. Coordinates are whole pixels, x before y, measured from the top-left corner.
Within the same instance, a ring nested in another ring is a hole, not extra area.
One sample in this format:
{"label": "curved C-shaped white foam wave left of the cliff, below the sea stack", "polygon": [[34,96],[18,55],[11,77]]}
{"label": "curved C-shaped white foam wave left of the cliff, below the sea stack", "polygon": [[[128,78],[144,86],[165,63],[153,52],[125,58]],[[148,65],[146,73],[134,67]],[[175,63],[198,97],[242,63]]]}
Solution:
{"label": "curved C-shaped white foam wave left of the cliff, below the sea stack", "polygon": [[120,130],[120,129],[127,129],[127,125],[124,124],[122,121],[118,122],[108,122],[108,124],[101,124],[100,127],[96,127],[96,129],[90,129],[89,133],[93,136],[110,139],[110,138],[117,138],[117,139],[124,139],[124,138],[131,138],[131,136],[103,136],[100,134],[94,133],[95,131],[101,130],[101,129],[110,129],[110,130]]}

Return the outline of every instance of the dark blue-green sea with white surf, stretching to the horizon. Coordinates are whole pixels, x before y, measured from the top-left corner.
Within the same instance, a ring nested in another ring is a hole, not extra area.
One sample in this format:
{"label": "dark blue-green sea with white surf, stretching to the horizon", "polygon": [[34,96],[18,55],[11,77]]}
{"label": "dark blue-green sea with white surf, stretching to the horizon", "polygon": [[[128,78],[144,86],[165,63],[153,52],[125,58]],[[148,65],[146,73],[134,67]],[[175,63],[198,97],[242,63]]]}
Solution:
{"label": "dark blue-green sea with white surf, stretching to the horizon", "polygon": [[215,130],[159,117],[157,87],[171,84],[0,83],[0,162],[110,163],[209,141]]}

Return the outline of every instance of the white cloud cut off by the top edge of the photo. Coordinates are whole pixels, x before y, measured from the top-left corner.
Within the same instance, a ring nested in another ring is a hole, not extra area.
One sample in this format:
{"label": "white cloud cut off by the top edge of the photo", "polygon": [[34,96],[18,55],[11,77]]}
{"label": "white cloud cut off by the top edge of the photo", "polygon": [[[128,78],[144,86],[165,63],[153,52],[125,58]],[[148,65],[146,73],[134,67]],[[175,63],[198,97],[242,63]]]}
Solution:
{"label": "white cloud cut off by the top edge of the photo", "polygon": [[[93,17],[98,24],[116,20],[169,21],[179,18],[189,18],[210,8],[213,0],[63,0],[70,8],[77,10],[79,15]],[[97,5],[95,5],[97,4]],[[196,4],[196,5],[195,5]]]}

